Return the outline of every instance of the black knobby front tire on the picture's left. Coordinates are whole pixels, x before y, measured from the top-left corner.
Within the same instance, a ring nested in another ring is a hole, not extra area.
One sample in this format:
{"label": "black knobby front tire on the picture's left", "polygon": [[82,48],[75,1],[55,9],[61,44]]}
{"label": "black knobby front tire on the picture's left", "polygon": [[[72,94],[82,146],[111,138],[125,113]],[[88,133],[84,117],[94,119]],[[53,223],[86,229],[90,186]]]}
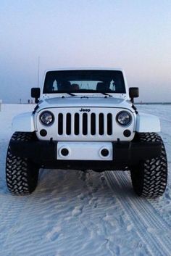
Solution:
{"label": "black knobby front tire on the picture's left", "polygon": [[17,157],[12,154],[12,141],[33,141],[34,133],[15,132],[9,141],[6,159],[6,181],[9,191],[13,194],[31,194],[38,183],[38,166],[28,158]]}

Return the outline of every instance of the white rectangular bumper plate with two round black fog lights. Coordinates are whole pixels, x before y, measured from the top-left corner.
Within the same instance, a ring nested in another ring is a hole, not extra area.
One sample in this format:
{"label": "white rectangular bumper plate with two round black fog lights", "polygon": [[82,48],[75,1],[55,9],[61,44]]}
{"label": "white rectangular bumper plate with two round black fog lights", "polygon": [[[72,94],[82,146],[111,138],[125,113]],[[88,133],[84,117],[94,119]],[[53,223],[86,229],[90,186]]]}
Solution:
{"label": "white rectangular bumper plate with two round black fog lights", "polygon": [[[67,149],[69,154],[63,156],[62,149]],[[109,155],[103,157],[102,149],[108,149]],[[71,142],[62,141],[57,144],[57,160],[112,160],[111,142]]]}

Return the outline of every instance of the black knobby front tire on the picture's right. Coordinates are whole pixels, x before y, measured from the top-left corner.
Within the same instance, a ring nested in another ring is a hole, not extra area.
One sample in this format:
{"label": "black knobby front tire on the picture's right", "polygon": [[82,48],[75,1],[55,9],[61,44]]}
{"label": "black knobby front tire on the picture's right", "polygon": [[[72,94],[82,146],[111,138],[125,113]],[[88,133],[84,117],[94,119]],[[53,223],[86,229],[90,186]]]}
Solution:
{"label": "black knobby front tire on the picture's right", "polygon": [[161,141],[159,157],[140,162],[130,168],[133,189],[138,196],[155,198],[164,194],[167,186],[167,155],[157,133],[137,133],[138,141]]}

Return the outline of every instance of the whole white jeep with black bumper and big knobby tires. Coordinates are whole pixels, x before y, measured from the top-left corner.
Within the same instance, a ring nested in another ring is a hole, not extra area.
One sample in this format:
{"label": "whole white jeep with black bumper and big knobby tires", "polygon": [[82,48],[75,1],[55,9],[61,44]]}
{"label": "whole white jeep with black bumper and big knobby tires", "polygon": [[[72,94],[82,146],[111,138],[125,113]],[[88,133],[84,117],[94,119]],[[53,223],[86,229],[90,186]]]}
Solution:
{"label": "whole white jeep with black bumper and big knobby tires", "polygon": [[41,94],[32,88],[31,96],[36,108],[12,122],[9,191],[30,194],[40,168],[63,168],[130,170],[136,194],[164,193],[167,157],[159,118],[138,112],[138,88],[128,91],[122,70],[49,70]]}

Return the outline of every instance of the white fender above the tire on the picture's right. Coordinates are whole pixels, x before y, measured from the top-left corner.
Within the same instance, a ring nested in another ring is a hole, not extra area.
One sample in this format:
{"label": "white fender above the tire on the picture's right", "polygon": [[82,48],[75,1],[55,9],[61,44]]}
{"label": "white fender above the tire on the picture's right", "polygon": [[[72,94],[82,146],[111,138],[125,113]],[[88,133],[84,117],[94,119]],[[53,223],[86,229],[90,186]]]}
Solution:
{"label": "white fender above the tire on the picture's right", "polygon": [[159,117],[138,113],[135,131],[138,133],[159,133],[161,131]]}

